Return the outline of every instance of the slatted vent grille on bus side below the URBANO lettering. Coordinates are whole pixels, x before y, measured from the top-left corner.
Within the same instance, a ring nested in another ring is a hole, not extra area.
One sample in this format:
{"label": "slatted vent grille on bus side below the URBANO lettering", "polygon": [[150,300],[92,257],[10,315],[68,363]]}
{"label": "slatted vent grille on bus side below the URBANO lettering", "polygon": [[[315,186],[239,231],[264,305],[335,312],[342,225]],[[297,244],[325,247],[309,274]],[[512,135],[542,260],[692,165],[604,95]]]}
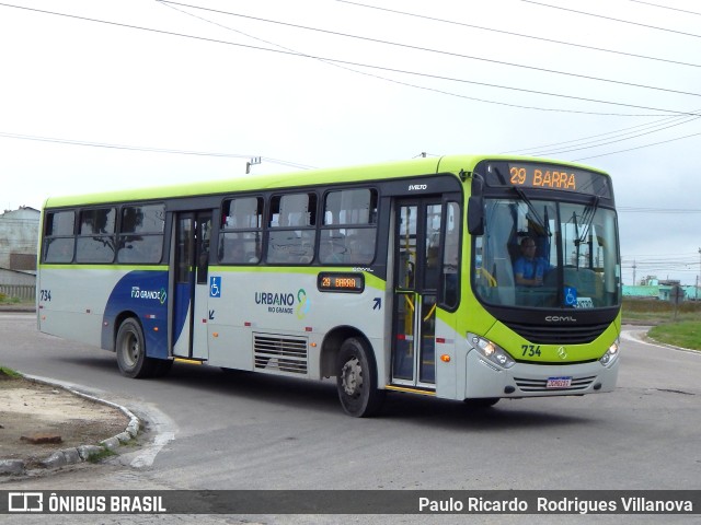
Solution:
{"label": "slatted vent grille on bus side below the URBANO lettering", "polygon": [[256,369],[307,374],[307,339],[254,334],[253,361]]}

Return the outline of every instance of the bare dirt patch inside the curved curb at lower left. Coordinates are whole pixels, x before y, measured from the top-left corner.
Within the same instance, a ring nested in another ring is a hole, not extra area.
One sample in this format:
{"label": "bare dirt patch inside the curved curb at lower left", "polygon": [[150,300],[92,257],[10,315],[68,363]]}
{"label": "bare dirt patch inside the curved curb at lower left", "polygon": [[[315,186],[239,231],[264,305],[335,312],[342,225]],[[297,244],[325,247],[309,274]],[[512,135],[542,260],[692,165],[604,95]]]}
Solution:
{"label": "bare dirt patch inside the curved curb at lower left", "polygon": [[[0,371],[0,459],[37,466],[55,451],[95,445],[128,423],[117,408]],[[39,435],[60,436],[60,442],[33,443]]]}

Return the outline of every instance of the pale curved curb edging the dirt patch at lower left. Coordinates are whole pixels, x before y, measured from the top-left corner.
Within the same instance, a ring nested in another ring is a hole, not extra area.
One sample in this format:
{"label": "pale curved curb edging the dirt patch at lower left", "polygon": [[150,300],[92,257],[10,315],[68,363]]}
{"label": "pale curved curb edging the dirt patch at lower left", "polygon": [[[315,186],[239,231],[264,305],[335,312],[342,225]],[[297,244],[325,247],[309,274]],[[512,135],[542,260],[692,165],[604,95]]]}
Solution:
{"label": "pale curved curb edging the dirt patch at lower left", "polygon": [[[116,408],[122,413],[124,413],[127,418],[129,418],[129,423],[127,424],[124,432],[120,432],[117,435],[113,435],[112,438],[107,438],[106,440],[102,440],[99,445],[79,445],[71,448],[62,448],[60,451],[56,451],[51,453],[50,456],[38,462],[38,464],[44,468],[58,468],[66,465],[73,465],[77,463],[87,462],[91,457],[103,454],[105,452],[114,452],[123,443],[127,443],[133,439],[135,439],[138,435],[139,430],[141,429],[141,421],[139,420],[139,418],[137,418],[128,408],[123,407],[122,405],[117,405],[116,402],[107,401],[105,399],[101,399],[99,397],[84,394],[70,386],[51,382],[46,378],[34,377],[31,375],[25,375],[23,377],[34,383],[41,383],[44,385],[62,388],[64,390],[69,392],[76,396],[90,399],[94,402],[106,405],[112,408]],[[3,475],[16,476],[16,475],[26,474],[26,471],[27,471],[27,466],[24,459],[0,458],[0,476],[3,476]]]}

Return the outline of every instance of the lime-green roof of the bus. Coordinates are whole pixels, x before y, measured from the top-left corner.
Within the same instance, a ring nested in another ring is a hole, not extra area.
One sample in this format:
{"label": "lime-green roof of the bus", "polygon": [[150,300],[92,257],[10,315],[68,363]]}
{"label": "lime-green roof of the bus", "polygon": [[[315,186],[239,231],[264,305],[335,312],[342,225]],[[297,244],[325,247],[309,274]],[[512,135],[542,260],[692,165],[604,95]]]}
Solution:
{"label": "lime-green roof of the bus", "polygon": [[[269,175],[233,176],[228,179],[182,183],[150,187],[134,187],[123,190],[102,191],[83,195],[49,197],[44,208],[61,208],[70,206],[100,205],[136,200],[159,200],[202,195],[227,194],[232,191],[254,191],[266,189],[284,189],[299,186],[315,186],[344,182],[378,180],[420,176],[435,173],[471,172],[485,159],[520,160],[556,163],[572,167],[600,170],[564,161],[515,155],[447,155],[432,159],[414,159],[378,164],[357,165],[309,170],[302,172],[285,172]],[[604,173],[604,172],[600,172]]]}

